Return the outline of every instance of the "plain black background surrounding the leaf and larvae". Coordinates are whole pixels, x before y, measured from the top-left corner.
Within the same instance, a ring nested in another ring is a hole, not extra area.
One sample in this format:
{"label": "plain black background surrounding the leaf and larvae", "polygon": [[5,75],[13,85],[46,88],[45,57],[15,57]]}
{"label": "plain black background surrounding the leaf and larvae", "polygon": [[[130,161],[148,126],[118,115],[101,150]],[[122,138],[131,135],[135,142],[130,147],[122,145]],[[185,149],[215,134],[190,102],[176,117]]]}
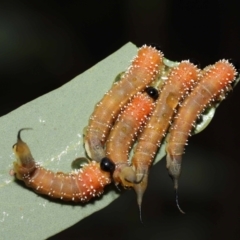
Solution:
{"label": "plain black background surrounding the leaf and larvae", "polygon": [[[156,43],[171,60],[240,62],[237,0],[0,2],[0,115],[70,81],[125,43]],[[117,73],[116,73],[117,74]],[[152,169],[144,225],[128,191],[50,238],[239,239],[240,86],[193,136],[180,181],[181,215],[165,161]]]}

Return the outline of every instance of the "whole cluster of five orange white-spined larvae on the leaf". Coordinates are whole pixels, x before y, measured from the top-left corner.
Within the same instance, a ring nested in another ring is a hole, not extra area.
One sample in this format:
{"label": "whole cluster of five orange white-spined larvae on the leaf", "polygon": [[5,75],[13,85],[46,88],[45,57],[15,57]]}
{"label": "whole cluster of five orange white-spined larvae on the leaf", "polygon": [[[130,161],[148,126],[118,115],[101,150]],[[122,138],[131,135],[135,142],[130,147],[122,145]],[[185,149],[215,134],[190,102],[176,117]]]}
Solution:
{"label": "whole cluster of five orange white-spined larvae on the leaf", "polygon": [[[54,173],[39,166],[20,137],[24,129],[19,130],[13,146],[16,178],[37,193],[75,202],[99,196],[113,180],[116,185],[134,188],[141,210],[149,168],[168,134],[166,167],[177,193],[184,145],[196,120],[210,104],[224,98],[237,73],[227,60],[202,71],[189,61],[182,61],[160,84],[158,97],[158,91],[146,86],[157,79],[163,68],[161,52],[149,46],[139,49],[121,80],[96,105],[84,139],[93,161],[75,172]],[[133,158],[129,160],[135,141]],[[182,211],[177,195],[176,203]]]}

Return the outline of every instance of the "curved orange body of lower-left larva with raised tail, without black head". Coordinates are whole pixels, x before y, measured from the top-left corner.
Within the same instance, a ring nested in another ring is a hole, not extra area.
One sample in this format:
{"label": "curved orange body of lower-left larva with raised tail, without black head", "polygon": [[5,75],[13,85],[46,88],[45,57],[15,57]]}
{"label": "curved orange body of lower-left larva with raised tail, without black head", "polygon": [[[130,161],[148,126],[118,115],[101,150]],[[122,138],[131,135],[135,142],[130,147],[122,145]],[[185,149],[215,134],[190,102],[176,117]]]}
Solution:
{"label": "curved orange body of lower-left larva with raised tail, without black head", "polygon": [[39,166],[27,144],[21,140],[22,130],[18,132],[17,143],[13,146],[17,159],[13,163],[13,171],[17,179],[24,181],[35,192],[64,201],[87,202],[101,195],[104,187],[111,182],[110,173],[102,171],[95,161],[72,173],[54,173]]}

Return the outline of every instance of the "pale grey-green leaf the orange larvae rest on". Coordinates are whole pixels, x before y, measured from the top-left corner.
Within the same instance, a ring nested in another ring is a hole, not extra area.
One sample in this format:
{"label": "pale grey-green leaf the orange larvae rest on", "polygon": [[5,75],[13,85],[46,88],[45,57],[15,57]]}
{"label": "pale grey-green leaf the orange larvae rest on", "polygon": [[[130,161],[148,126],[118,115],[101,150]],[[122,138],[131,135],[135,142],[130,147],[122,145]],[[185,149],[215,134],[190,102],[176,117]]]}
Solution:
{"label": "pale grey-green leaf the orange larvae rest on", "polygon": [[[39,196],[9,175],[15,159],[11,147],[16,142],[18,130],[31,127],[33,131],[22,132],[22,139],[29,145],[36,161],[54,171],[71,171],[72,161],[85,156],[82,130],[94,105],[111,87],[116,75],[128,67],[136,52],[136,46],[128,43],[64,86],[1,117],[2,239],[46,239],[106,207],[119,196],[115,191],[109,191],[85,205]],[[162,146],[155,163],[164,155]]]}

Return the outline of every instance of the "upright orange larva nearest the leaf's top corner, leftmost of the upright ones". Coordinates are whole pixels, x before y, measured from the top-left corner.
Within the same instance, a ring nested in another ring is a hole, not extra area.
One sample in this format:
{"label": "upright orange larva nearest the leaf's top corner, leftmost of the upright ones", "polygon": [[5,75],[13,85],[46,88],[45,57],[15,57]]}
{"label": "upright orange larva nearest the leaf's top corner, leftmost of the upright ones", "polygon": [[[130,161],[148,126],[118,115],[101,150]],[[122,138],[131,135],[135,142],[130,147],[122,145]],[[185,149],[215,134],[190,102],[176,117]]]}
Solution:
{"label": "upright orange larva nearest the leaf's top corner, leftmost of the upright ones", "polygon": [[92,160],[100,162],[105,157],[104,144],[121,108],[159,75],[162,65],[163,54],[144,45],[121,80],[96,105],[84,139],[85,150]]}

